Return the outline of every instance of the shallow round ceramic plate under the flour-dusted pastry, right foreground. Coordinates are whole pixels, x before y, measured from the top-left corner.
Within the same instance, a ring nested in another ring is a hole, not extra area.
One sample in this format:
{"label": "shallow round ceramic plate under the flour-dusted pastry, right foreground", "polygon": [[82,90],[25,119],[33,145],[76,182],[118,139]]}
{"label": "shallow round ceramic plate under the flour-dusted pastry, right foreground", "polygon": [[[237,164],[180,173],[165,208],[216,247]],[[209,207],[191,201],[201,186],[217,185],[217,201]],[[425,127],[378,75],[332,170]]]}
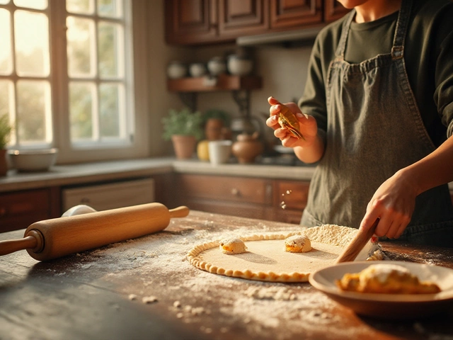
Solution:
{"label": "shallow round ceramic plate under the flour-dusted pastry, right foreground", "polygon": [[[371,263],[370,263],[371,262]],[[335,280],[345,273],[358,273],[377,263],[392,263],[408,268],[420,280],[431,280],[442,290],[437,294],[373,294],[340,290]],[[309,277],[314,288],[357,314],[385,319],[426,317],[453,307],[453,269],[403,261],[359,261],[340,263],[316,271]]]}

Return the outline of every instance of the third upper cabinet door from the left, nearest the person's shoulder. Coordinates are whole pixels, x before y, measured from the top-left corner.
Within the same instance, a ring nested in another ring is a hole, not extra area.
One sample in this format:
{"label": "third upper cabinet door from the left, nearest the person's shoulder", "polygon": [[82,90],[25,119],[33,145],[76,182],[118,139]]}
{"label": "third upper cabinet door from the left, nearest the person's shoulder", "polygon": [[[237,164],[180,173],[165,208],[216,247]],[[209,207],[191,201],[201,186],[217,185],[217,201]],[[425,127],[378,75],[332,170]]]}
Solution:
{"label": "third upper cabinet door from the left, nearest the person's shoulder", "polygon": [[271,28],[301,28],[322,23],[321,0],[270,1]]}

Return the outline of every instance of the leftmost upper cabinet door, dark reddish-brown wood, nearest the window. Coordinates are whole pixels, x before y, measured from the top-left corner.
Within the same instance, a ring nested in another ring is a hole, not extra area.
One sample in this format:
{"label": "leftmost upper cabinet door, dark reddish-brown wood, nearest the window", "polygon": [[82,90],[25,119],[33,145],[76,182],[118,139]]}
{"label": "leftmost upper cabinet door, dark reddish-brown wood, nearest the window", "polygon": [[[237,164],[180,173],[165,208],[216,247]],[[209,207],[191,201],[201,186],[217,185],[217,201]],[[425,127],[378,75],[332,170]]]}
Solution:
{"label": "leftmost upper cabinet door, dark reddish-brown wood, nearest the window", "polygon": [[215,0],[164,0],[166,42],[196,44],[217,37]]}

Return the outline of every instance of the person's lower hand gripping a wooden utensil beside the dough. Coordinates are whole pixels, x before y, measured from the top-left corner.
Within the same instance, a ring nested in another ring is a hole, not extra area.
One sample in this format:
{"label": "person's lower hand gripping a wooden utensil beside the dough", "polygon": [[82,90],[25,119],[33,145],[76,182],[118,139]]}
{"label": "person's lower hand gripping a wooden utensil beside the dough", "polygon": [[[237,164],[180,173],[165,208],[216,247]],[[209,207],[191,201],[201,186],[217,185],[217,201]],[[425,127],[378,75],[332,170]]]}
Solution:
{"label": "person's lower hand gripping a wooden utensil beside the dough", "polygon": [[360,223],[360,228],[371,227],[379,218],[374,234],[397,239],[411,222],[415,197],[417,197],[415,186],[398,171],[374,193],[367,205],[367,212]]}

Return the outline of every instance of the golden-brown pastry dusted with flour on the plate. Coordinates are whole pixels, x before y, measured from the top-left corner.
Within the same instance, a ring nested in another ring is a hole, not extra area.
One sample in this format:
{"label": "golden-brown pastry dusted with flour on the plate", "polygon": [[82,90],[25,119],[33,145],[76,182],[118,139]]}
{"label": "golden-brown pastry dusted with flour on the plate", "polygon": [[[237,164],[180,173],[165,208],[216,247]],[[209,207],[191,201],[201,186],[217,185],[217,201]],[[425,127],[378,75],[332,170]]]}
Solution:
{"label": "golden-brown pastry dusted with flour on the plate", "polygon": [[438,285],[431,281],[420,281],[406,267],[394,264],[373,264],[359,273],[345,273],[336,280],[341,290],[358,293],[384,294],[434,294]]}

